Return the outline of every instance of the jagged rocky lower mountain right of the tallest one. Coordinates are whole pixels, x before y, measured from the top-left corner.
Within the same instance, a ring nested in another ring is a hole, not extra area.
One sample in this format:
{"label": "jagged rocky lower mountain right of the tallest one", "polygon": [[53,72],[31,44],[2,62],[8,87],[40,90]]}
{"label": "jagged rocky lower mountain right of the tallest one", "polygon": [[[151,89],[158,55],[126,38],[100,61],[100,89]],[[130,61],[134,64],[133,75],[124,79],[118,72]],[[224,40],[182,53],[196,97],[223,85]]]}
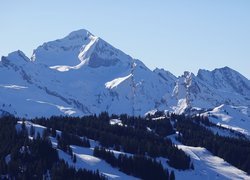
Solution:
{"label": "jagged rocky lower mountain right of the tallest one", "polygon": [[173,90],[175,113],[202,114],[215,123],[250,135],[250,83],[229,67],[185,72]]}

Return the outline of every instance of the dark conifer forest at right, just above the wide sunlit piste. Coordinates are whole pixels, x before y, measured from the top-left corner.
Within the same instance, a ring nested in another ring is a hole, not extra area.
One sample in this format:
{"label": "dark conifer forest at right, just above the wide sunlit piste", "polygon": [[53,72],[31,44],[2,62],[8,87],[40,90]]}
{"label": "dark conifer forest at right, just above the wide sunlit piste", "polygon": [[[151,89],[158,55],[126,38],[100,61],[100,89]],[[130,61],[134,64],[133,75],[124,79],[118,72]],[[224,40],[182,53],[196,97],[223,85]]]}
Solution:
{"label": "dark conifer forest at right, just above the wide sunlit piste", "polygon": [[250,141],[214,134],[201,125],[202,120],[197,117],[179,119],[176,124],[177,130],[181,132],[178,140],[186,145],[205,147],[214,155],[250,174]]}

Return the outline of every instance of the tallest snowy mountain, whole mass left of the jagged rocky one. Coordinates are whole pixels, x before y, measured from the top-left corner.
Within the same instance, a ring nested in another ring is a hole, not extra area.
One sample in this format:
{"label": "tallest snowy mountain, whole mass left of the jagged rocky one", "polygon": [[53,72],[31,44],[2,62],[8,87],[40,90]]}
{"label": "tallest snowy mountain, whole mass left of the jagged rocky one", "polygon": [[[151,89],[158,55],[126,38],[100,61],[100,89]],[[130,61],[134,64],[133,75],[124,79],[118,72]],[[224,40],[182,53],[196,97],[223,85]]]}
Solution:
{"label": "tallest snowy mountain, whole mass left of the jagged rocky one", "polygon": [[0,82],[1,109],[21,117],[142,115],[169,107],[165,79],[86,30],[44,43],[30,59],[13,52],[0,68],[8,77]]}

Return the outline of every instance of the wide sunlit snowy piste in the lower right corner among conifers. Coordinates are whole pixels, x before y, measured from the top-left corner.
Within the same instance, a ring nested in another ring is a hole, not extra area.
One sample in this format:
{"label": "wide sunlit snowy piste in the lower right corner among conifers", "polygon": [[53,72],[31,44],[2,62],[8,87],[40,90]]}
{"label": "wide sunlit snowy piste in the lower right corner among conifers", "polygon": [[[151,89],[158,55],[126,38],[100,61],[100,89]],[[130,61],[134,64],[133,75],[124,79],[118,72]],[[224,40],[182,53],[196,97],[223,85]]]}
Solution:
{"label": "wide sunlit snowy piste in the lower right corner among conifers", "polygon": [[[190,156],[194,164],[193,171],[175,171],[176,179],[250,179],[250,176],[244,171],[230,165],[220,157],[214,156],[205,148],[185,146],[175,140],[175,137],[176,135],[169,136],[179,149]],[[171,169],[166,165],[165,167]]]}

